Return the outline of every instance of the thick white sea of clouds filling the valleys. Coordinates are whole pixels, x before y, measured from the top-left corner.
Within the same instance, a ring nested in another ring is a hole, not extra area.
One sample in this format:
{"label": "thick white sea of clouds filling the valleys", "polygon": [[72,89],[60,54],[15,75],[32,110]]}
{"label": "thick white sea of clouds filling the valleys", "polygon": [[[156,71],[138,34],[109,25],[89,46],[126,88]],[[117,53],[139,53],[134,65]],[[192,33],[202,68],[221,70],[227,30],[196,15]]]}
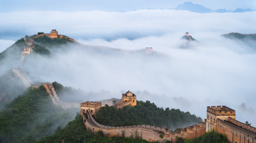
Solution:
{"label": "thick white sea of clouds filling the valleys", "polygon": [[[25,35],[52,29],[84,45],[123,50],[153,47],[161,56],[113,54],[111,50],[92,54],[70,45],[70,50],[32,60],[32,66],[24,68],[43,82],[57,81],[88,93],[106,91],[88,100],[120,98],[130,90],[138,100],[180,108],[203,119],[206,106],[226,105],[236,110],[237,120],[256,126],[256,49],[220,36],[256,33],[255,14],[175,10],[0,13],[0,50]],[[199,42],[181,49],[185,32]]]}

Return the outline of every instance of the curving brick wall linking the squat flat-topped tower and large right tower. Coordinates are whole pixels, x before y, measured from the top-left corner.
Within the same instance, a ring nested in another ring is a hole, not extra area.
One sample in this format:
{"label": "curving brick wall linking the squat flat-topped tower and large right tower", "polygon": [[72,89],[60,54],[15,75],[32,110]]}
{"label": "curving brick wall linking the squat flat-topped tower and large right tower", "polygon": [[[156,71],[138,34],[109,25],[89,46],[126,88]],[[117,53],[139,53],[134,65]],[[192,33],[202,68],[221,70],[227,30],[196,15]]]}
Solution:
{"label": "curving brick wall linking the squat flat-topped tower and large right tower", "polygon": [[[83,115],[83,111],[81,109],[81,114]],[[121,126],[121,127],[114,127],[114,126],[107,126],[102,125],[92,117],[90,113],[86,113],[88,119],[85,118],[83,115],[83,120],[87,130],[91,130],[93,133],[96,133],[98,130],[101,130],[104,135],[106,136],[113,136],[113,135],[122,135],[124,136],[131,136],[135,137],[136,133],[142,139],[154,142],[154,141],[163,141],[163,139],[170,140],[174,143],[176,136],[182,136],[185,139],[195,138],[196,136],[203,135],[205,133],[205,123],[200,122],[199,125],[193,125],[187,128],[184,128],[180,131],[170,132],[166,131],[164,128],[151,126],[151,125],[133,125],[133,126]],[[163,138],[160,138],[159,135],[162,134]]]}

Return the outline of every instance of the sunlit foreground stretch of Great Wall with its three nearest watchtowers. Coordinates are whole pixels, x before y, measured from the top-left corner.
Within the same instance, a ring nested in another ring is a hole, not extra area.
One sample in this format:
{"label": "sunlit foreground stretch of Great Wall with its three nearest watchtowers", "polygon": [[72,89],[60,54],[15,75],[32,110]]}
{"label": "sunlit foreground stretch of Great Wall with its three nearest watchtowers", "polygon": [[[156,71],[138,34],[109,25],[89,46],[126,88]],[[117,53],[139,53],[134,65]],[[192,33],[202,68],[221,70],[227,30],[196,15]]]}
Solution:
{"label": "sunlit foreground stretch of Great Wall with its three nearest watchtowers", "polygon": [[[127,97],[124,95],[128,95]],[[130,91],[122,94],[122,101],[113,106],[122,108],[125,105],[135,105],[136,96]],[[124,98],[123,98],[124,97]],[[96,133],[102,131],[106,136],[123,135],[126,137],[142,138],[147,141],[163,141],[169,140],[171,143],[176,141],[176,137],[184,139],[193,139],[211,129],[225,134],[228,140],[232,143],[256,143],[256,128],[246,125],[235,120],[235,110],[226,106],[208,106],[207,119],[204,122],[199,122],[198,125],[189,126],[181,130],[171,132],[165,128],[151,125],[133,125],[133,126],[107,126],[98,123],[92,114],[97,114],[97,110],[101,107],[101,102],[85,102],[80,104],[80,113],[83,116],[83,122],[87,130]]]}

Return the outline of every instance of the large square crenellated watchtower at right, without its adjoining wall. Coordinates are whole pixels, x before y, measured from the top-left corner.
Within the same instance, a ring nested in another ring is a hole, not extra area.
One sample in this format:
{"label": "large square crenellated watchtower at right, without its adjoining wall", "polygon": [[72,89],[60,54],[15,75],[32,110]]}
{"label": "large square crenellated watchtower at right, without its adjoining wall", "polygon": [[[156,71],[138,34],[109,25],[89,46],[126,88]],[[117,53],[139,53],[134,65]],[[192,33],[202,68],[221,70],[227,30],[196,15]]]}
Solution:
{"label": "large square crenellated watchtower at right, without its adjoining wall", "polygon": [[207,106],[206,114],[206,132],[210,129],[218,131],[217,119],[228,120],[228,117],[236,119],[236,111],[227,106]]}

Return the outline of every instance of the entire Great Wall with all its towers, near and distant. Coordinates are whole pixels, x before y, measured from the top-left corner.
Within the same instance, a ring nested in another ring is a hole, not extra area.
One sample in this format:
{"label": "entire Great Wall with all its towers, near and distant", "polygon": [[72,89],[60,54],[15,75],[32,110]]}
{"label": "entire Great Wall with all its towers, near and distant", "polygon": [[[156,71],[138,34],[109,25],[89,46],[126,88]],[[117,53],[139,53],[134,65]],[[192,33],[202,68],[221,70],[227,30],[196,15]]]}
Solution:
{"label": "entire Great Wall with all its towers, near and distant", "polygon": [[[186,36],[188,36],[188,33],[186,34]],[[67,38],[68,40],[76,42],[74,39],[68,38],[67,36],[58,35],[58,32],[54,29],[52,30],[51,34],[41,33],[34,36],[33,38],[37,38],[40,36],[47,36],[50,38]],[[20,58],[21,64],[25,58],[25,55],[32,53],[32,49],[35,45],[33,39],[24,40],[30,47],[24,48]],[[17,69],[14,69],[13,72],[17,74],[21,79],[24,79],[25,87],[30,86],[31,81],[28,77],[21,74],[21,72]],[[106,136],[123,135],[127,137],[140,137],[151,142],[157,140],[170,140],[171,143],[174,143],[176,141],[176,136],[183,137],[184,139],[192,139],[200,135],[203,135],[210,129],[214,129],[219,133],[225,134],[228,140],[232,143],[256,143],[256,128],[237,121],[235,119],[235,110],[228,108],[226,106],[208,106],[206,110],[206,119],[204,119],[204,122],[199,122],[199,125],[189,126],[175,132],[166,131],[162,127],[151,125],[114,127],[102,125],[96,122],[96,120],[93,118],[92,114],[97,114],[97,110],[102,106],[101,102],[65,103],[59,100],[54,90],[54,87],[51,83],[47,82],[40,85],[43,85],[46,88],[47,92],[49,93],[49,96],[52,98],[52,102],[54,104],[61,105],[63,109],[73,107],[78,108],[80,104],[80,113],[83,116],[83,123],[87,130],[91,130],[93,133],[96,133],[98,130],[101,130],[103,134]],[[38,88],[40,85],[32,85],[32,88]],[[122,94],[121,101],[118,99],[113,100],[118,102],[116,104],[114,104],[111,100],[103,101],[107,104],[111,104],[112,102],[112,105],[117,108],[122,108],[123,106],[129,104],[131,104],[132,106],[135,106],[137,104],[136,96],[130,91],[127,91],[126,93]]]}

